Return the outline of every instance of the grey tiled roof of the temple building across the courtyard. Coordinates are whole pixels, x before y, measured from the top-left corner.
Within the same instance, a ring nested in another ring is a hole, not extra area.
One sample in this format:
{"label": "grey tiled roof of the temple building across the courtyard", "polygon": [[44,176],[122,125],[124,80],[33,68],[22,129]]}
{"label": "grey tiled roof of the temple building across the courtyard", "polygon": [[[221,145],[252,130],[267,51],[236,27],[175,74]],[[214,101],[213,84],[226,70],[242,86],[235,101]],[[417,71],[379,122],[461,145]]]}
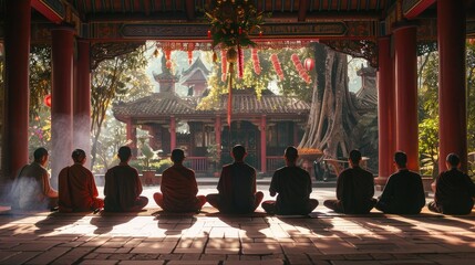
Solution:
{"label": "grey tiled roof of the temple building across the courtyard", "polygon": [[[178,97],[173,94],[155,93],[135,102],[114,105],[113,112],[117,119],[127,117],[153,118],[163,116],[225,114],[227,96],[223,96],[218,109],[198,110],[198,98]],[[310,105],[293,97],[262,95],[260,100],[255,95],[236,94],[233,96],[233,114],[309,114]]]}

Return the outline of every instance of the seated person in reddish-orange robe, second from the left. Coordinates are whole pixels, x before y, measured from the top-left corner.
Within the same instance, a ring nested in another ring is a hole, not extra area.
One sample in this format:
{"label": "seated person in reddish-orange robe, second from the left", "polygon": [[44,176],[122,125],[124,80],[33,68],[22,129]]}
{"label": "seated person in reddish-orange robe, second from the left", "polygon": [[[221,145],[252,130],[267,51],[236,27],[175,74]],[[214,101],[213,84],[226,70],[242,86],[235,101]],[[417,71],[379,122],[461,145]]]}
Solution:
{"label": "seated person in reddish-orange robe, second from the left", "polygon": [[58,177],[60,212],[87,212],[103,208],[104,201],[97,198],[94,176],[84,168],[84,150],[75,149],[71,157],[74,165],[63,168]]}

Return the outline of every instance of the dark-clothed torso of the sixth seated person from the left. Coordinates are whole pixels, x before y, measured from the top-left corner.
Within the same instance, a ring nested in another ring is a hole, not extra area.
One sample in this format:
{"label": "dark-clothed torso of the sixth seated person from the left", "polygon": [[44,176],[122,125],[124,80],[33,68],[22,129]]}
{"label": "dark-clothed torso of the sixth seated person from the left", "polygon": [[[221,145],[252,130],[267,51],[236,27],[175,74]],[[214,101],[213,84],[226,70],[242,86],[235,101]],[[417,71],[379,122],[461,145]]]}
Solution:
{"label": "dark-clothed torso of the sixth seated person from the left", "polygon": [[312,192],[310,174],[297,167],[278,169],[270,183],[270,191],[278,193],[277,214],[308,214],[309,199]]}

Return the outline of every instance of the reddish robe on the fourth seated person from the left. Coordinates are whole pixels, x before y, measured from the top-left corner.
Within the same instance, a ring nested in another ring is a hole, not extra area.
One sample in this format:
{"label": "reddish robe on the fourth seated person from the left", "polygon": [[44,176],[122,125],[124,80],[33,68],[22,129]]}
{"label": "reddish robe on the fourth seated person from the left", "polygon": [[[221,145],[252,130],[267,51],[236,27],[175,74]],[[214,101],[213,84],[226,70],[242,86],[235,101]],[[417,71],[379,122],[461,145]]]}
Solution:
{"label": "reddish robe on the fourth seated person from the left", "polygon": [[198,184],[195,172],[183,165],[174,165],[162,174],[161,191],[164,210],[169,212],[188,212],[200,209]]}

